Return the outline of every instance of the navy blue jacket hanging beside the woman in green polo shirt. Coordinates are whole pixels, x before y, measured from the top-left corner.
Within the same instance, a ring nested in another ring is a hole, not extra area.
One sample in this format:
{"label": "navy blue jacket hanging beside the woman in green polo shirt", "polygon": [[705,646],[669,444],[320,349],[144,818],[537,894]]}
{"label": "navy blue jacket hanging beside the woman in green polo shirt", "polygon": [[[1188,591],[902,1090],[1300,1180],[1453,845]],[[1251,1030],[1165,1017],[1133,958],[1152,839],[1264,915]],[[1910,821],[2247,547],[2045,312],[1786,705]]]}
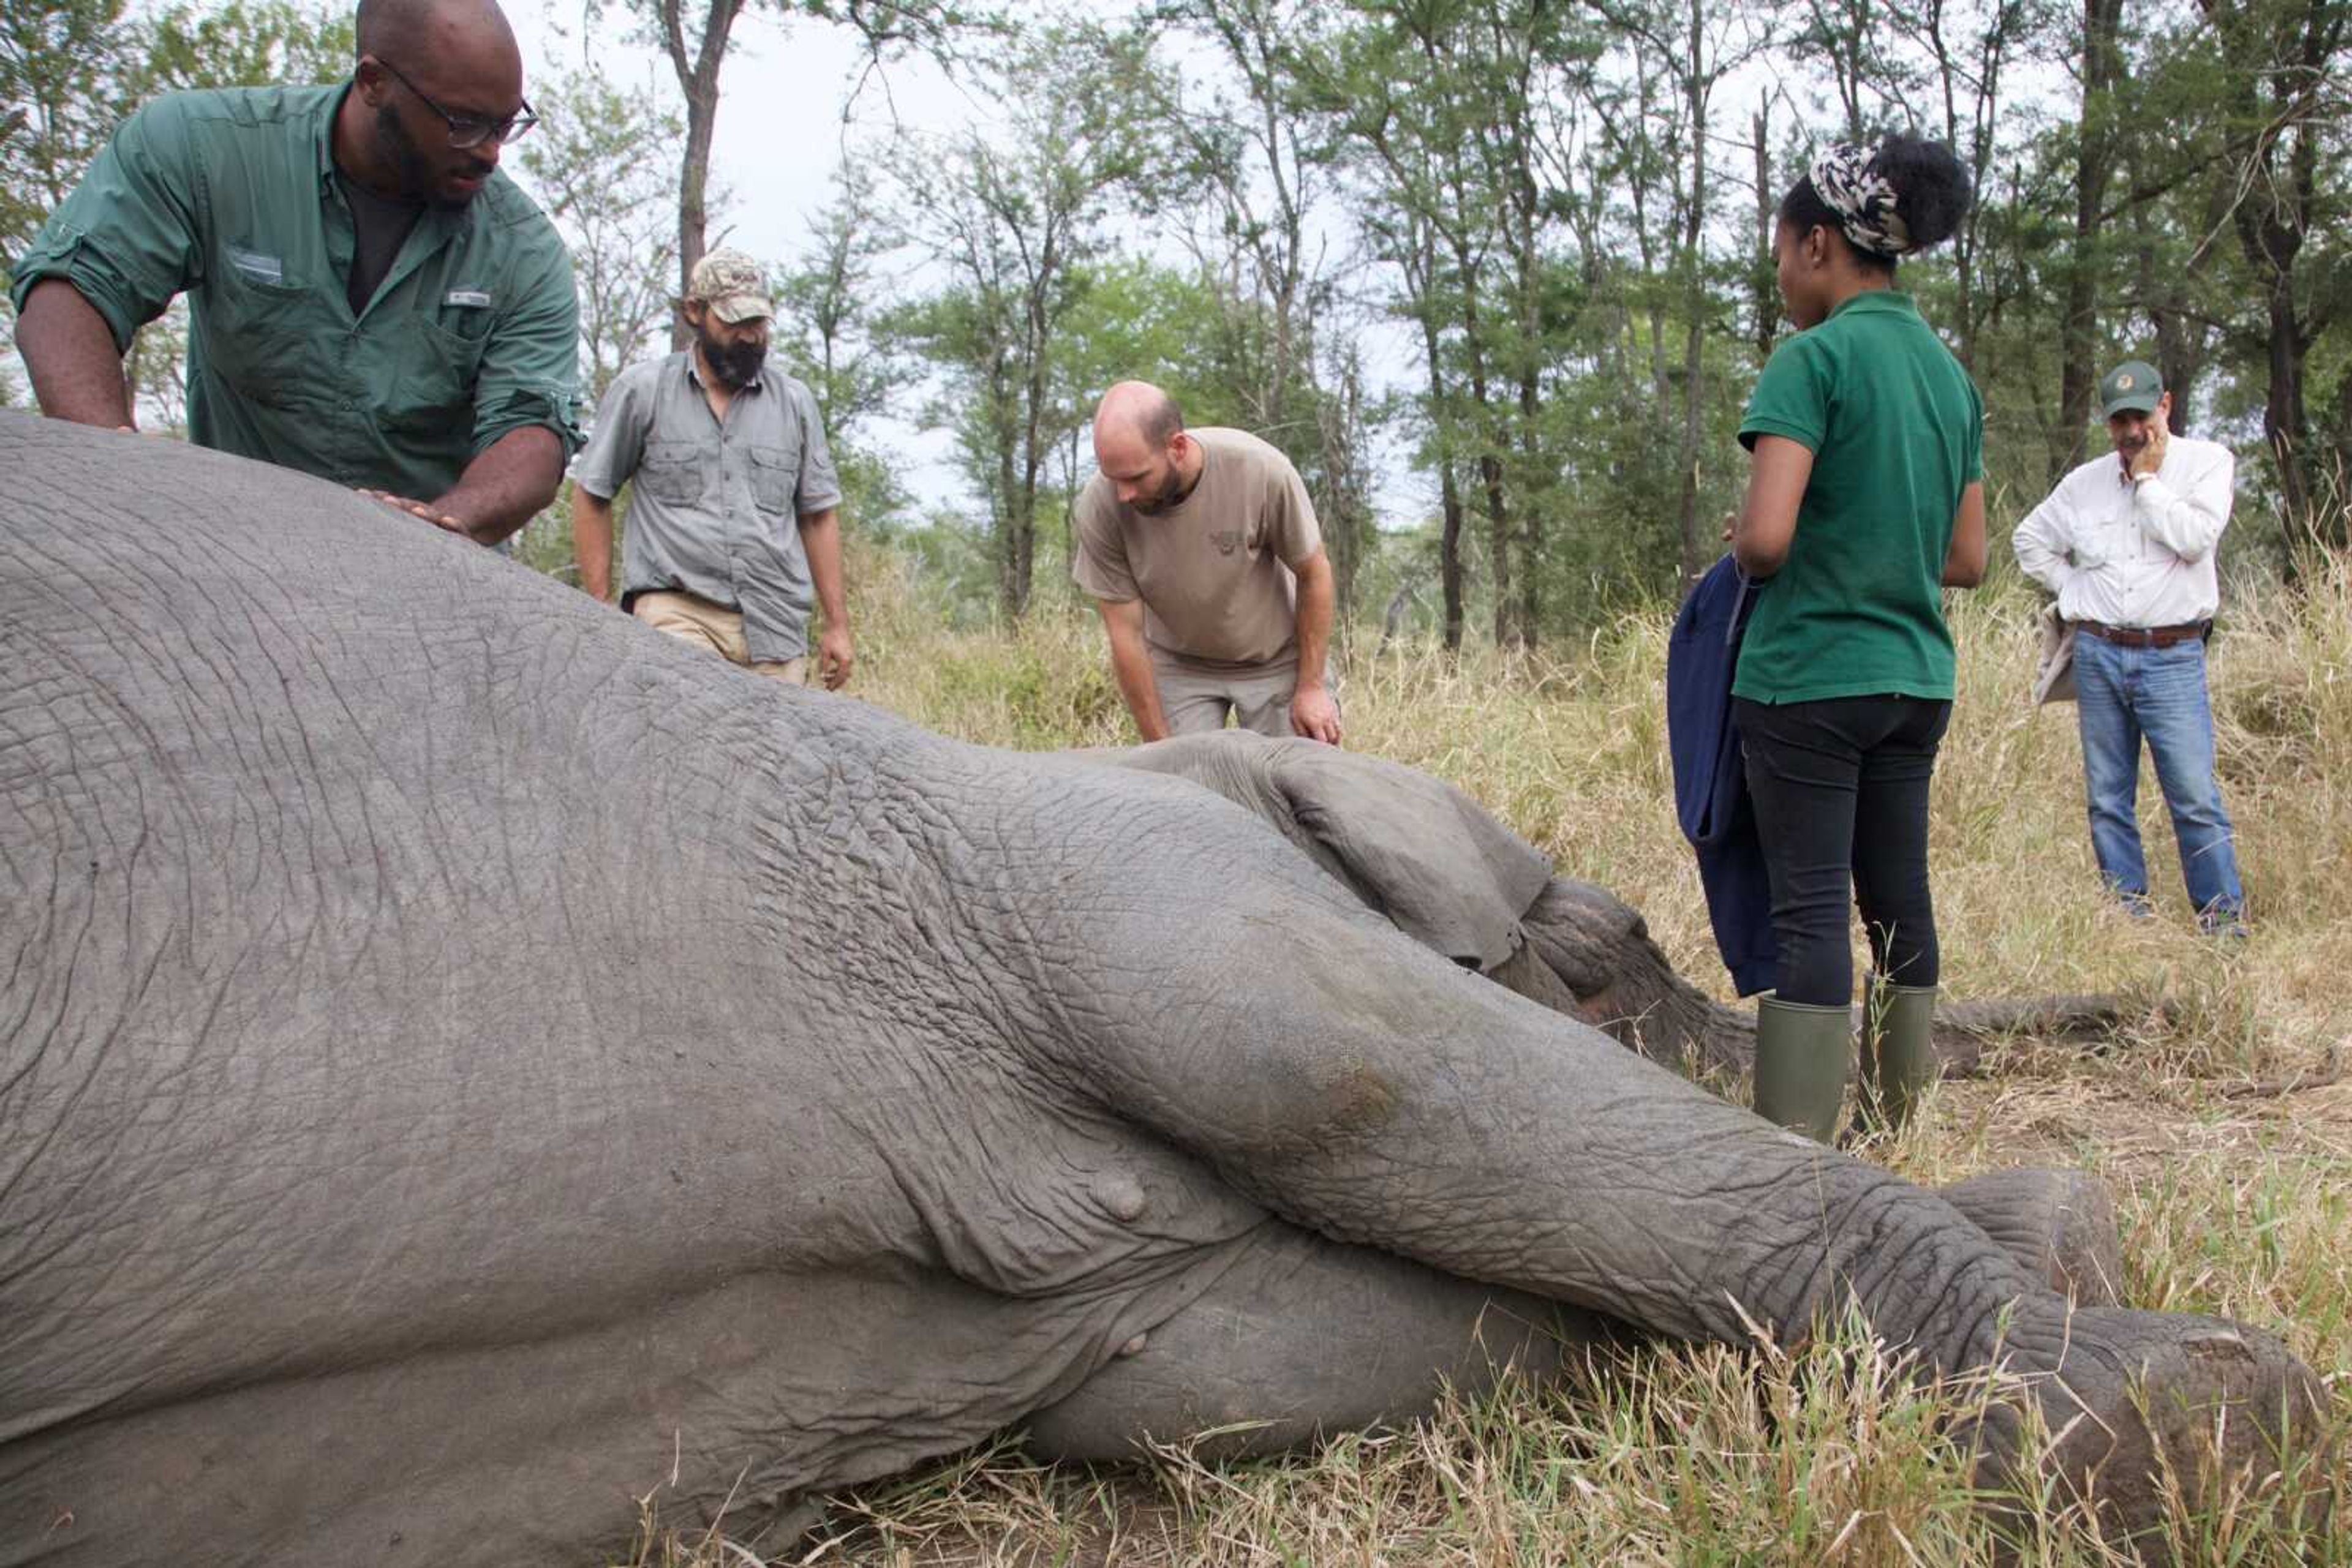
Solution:
{"label": "navy blue jacket hanging beside the woman in green polo shirt", "polygon": [[1665,644],[1665,743],[1675,757],[1675,816],[1698,851],[1708,924],[1743,997],[1771,990],[1780,950],[1771,936],[1771,884],[1748,802],[1740,729],[1731,722],[1731,675],[1757,583],[1724,557],[1698,578]]}

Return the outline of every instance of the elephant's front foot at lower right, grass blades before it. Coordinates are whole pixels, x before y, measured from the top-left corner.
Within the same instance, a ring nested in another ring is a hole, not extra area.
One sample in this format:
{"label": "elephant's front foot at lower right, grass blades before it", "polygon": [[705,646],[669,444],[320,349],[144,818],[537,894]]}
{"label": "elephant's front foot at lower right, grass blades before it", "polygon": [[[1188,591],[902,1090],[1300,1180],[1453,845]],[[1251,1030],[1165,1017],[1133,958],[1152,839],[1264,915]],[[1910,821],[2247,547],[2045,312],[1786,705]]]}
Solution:
{"label": "elephant's front foot at lower right, grass blades before it", "polygon": [[2016,1516],[1999,1497],[2049,1481],[2060,1507],[2169,1563],[2176,1509],[2213,1516],[2274,1490],[2272,1476],[2307,1497],[2307,1528],[2324,1523],[2326,1392],[2274,1335],[2171,1312],[2020,1305],[2006,1366],[2039,1406],[2044,1436],[2027,1443],[2018,1403],[1994,1403],[1962,1434],[1978,1448],[1976,1483],[1997,1523]]}

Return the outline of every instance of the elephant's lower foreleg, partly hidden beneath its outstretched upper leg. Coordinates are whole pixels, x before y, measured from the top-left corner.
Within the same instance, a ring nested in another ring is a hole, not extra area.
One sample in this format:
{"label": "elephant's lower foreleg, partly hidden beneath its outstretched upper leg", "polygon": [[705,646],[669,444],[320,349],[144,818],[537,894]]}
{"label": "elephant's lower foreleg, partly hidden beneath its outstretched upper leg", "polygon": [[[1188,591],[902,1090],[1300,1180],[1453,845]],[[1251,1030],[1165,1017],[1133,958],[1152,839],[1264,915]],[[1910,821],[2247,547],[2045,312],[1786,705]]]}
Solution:
{"label": "elephant's lower foreleg, partly hidden beneath its outstretched upper leg", "polygon": [[1444,1387],[1479,1394],[1505,1368],[1550,1378],[1630,1338],[1613,1319],[1277,1220],[1192,1305],[1037,1410],[1028,1446],[1131,1460],[1150,1439],[1211,1434],[1204,1455],[1282,1453],[1423,1418]]}

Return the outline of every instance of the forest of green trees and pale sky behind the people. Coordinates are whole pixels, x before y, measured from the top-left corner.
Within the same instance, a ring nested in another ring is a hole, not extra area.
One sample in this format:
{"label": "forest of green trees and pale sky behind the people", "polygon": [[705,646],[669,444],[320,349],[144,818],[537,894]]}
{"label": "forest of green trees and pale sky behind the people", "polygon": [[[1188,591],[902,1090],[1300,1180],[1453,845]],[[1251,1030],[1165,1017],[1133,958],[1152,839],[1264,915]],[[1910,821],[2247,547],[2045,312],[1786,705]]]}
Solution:
{"label": "forest of green trees and pale sky behind the people", "polygon": [[[2293,581],[2345,545],[2345,0],[1155,0],[1110,21],[612,0],[541,21],[574,63],[527,63],[543,125],[506,167],[572,242],[590,395],[670,341],[684,268],[727,233],[729,94],[840,99],[830,200],[764,256],[779,353],[823,404],[851,531],[957,628],[1075,604],[1084,418],[1120,376],[1291,454],[1357,635],[1529,649],[1670,599],[1719,550],[1738,414],[1788,329],[1771,207],[1816,146],[1889,127],[1978,176],[1900,287],[1985,395],[1997,538],[2098,449],[2093,383],[2136,355],[2180,428],[2239,451],[2232,571]],[[746,54],[753,28],[783,47]],[[795,71],[818,35],[854,42],[849,80]],[[607,68],[628,49],[661,68]],[[296,0],[9,5],[0,259],[141,99],[348,61],[348,12]],[[988,113],[901,122],[915,80]],[[179,425],[183,341],[174,310],[132,353],[151,425]],[[946,494],[908,487],[908,433],[950,454]],[[564,503],[522,555],[572,569]]]}

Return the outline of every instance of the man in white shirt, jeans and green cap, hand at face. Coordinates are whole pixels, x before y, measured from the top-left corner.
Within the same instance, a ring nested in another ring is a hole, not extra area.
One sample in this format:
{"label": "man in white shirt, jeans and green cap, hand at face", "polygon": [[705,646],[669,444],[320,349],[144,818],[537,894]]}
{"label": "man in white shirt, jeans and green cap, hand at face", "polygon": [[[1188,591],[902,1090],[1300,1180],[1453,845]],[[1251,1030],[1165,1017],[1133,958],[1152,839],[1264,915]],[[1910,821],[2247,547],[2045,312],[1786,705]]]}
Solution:
{"label": "man in white shirt, jeans and green cap, hand at face", "polygon": [[2018,524],[2027,576],[2074,628],[2082,771],[2100,877],[2147,907],[2140,856],[2140,738],[2173,813],[2180,870],[2206,931],[2241,933],[2230,813],[2213,776],[2206,632],[2220,607],[2213,548],[2230,527],[2237,458],[2169,430],[2173,397],[2131,360],[2098,383],[2112,458],[2084,463]]}

